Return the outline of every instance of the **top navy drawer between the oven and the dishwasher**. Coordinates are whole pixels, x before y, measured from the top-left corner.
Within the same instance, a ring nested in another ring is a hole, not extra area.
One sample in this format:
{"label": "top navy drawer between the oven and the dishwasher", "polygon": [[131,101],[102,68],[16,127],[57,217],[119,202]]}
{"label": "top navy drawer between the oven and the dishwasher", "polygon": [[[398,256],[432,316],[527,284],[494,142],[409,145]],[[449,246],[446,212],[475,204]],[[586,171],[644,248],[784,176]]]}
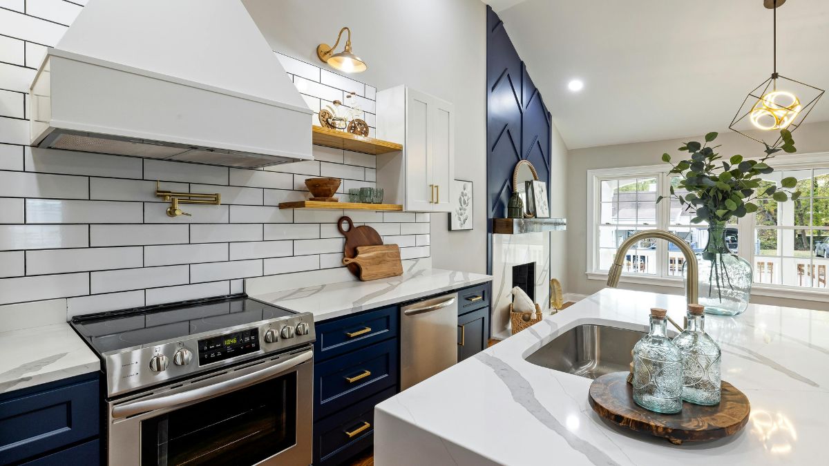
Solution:
{"label": "top navy drawer between the oven and the dishwasher", "polygon": [[316,323],[314,358],[322,361],[386,338],[397,337],[397,306],[380,308],[322,323]]}

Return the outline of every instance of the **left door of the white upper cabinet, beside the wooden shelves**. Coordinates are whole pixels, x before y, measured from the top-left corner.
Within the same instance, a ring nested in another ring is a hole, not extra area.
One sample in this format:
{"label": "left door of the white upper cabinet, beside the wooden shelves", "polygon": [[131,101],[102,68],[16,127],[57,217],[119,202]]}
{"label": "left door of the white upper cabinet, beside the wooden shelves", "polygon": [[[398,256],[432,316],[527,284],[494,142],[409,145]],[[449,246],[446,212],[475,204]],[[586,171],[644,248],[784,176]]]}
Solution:
{"label": "left door of the white upper cabinet, beside the wooden shelves", "polygon": [[434,190],[429,158],[432,141],[429,130],[432,97],[406,90],[405,183],[407,211],[432,211]]}

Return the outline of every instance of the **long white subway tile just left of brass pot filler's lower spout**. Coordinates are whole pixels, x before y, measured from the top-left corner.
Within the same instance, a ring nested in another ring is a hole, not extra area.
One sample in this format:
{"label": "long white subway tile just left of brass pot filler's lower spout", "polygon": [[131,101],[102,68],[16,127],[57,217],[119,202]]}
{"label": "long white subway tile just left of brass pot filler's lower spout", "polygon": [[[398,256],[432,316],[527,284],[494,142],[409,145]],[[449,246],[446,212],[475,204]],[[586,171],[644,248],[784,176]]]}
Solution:
{"label": "long white subway tile just left of brass pot filler's lower spout", "polygon": [[140,223],[141,204],[27,199],[26,223]]}

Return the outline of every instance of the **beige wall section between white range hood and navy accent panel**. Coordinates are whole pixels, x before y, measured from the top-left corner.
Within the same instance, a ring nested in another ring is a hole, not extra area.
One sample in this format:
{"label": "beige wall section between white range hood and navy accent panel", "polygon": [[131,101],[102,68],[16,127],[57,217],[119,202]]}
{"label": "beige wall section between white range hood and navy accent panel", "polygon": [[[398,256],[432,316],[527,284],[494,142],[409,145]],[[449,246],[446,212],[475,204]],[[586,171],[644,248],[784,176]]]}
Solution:
{"label": "beige wall section between white range hood and navy accent panel", "polygon": [[321,64],[317,45],[333,45],[347,26],[354,52],[369,66],[357,79],[377,90],[409,85],[454,104],[455,177],[474,182],[474,230],[448,231],[447,214],[433,214],[431,255],[435,267],[485,272],[486,6],[479,0],[244,3],[275,51]]}

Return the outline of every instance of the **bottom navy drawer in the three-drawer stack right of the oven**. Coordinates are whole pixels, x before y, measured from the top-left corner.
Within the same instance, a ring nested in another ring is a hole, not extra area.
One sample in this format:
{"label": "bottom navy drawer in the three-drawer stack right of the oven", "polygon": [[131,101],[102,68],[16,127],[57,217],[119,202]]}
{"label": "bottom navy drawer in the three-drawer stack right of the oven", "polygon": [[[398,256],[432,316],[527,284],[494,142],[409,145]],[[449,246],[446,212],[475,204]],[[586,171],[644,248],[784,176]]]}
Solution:
{"label": "bottom navy drawer in the three-drawer stack right of the oven", "polygon": [[374,438],[374,406],[396,393],[396,387],[386,389],[318,421],[314,425],[313,464],[342,464],[370,447]]}

